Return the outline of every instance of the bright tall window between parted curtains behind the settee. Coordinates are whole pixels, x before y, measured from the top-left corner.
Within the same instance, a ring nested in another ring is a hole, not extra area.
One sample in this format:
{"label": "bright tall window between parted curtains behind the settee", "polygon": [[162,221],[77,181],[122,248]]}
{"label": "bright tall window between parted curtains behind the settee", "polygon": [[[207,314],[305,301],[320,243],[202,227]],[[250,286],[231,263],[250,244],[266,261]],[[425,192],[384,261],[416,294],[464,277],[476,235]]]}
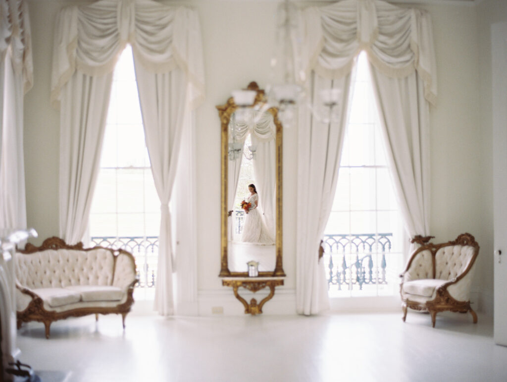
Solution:
{"label": "bright tall window between parted curtains behind the settee", "polygon": [[92,245],[131,252],[138,287],[150,288],[155,286],[159,229],[160,202],[144,142],[132,49],[127,46],[114,72],[89,233]]}

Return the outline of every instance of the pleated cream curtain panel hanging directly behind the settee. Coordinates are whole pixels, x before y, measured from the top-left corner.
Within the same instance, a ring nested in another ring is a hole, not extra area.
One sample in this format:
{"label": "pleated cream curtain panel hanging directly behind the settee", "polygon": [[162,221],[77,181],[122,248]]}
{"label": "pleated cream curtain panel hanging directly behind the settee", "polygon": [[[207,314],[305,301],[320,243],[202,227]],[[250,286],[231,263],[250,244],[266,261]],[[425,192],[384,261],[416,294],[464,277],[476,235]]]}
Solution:
{"label": "pleated cream curtain panel hanging directly behind the settee", "polygon": [[62,87],[60,112],[60,237],[81,241],[100,164],[113,74],[76,73]]}

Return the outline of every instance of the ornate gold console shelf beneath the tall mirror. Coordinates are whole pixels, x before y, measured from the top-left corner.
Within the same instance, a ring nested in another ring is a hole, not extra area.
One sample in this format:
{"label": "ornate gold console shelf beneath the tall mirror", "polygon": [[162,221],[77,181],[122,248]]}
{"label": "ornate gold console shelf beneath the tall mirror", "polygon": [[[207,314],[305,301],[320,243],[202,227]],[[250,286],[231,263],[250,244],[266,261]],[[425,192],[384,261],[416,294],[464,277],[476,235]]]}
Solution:
{"label": "ornate gold console shelf beneath the tall mirror", "polygon": [[[222,279],[222,285],[224,287],[232,287],[234,296],[243,304],[245,307],[245,315],[251,314],[253,316],[262,314],[263,305],[271,300],[275,295],[275,287],[283,285],[283,279],[280,277],[224,277]],[[269,294],[262,299],[258,304],[255,298],[250,300],[248,303],[238,293],[239,287],[248,289],[250,292],[255,293],[264,288],[269,288]]]}

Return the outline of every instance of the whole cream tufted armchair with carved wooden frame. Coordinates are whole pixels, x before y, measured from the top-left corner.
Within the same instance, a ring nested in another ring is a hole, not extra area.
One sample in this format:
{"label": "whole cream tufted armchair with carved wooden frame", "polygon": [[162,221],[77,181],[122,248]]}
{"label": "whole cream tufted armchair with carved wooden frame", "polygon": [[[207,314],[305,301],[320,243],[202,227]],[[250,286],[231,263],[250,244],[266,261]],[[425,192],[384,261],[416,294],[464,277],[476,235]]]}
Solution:
{"label": "whole cream tufted armchair with carved wooden frame", "polygon": [[437,313],[451,310],[470,311],[477,323],[476,312],[470,307],[470,287],[474,276],[479,245],[469,233],[444,244],[431,244],[415,239],[421,245],[410,257],[402,282],[403,321],[407,308],[429,311],[435,327]]}

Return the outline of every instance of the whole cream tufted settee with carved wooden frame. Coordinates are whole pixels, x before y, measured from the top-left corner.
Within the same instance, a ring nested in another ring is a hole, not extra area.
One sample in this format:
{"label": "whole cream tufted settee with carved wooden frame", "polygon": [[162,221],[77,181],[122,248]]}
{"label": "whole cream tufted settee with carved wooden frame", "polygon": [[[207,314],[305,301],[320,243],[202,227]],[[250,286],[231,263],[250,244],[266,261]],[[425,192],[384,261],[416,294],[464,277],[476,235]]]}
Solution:
{"label": "whole cream tufted settee with carved wooden frame", "polygon": [[58,237],[41,247],[27,244],[16,254],[18,328],[22,322],[43,322],[49,338],[53,321],[95,314],[125,316],[134,302],[137,282],[134,257],[123,250],[83,249]]}

